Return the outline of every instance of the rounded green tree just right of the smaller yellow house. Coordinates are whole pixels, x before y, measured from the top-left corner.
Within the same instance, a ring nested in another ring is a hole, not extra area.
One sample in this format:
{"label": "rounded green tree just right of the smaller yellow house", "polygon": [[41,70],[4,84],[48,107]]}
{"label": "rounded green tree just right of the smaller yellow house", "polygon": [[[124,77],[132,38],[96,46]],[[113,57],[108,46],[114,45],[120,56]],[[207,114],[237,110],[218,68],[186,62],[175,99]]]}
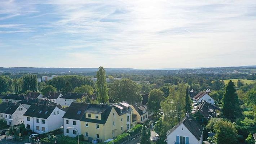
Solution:
{"label": "rounded green tree just right of the smaller yellow house", "polygon": [[149,93],[149,104],[148,108],[153,112],[157,113],[160,108],[160,102],[164,99],[163,91],[159,89],[153,89]]}

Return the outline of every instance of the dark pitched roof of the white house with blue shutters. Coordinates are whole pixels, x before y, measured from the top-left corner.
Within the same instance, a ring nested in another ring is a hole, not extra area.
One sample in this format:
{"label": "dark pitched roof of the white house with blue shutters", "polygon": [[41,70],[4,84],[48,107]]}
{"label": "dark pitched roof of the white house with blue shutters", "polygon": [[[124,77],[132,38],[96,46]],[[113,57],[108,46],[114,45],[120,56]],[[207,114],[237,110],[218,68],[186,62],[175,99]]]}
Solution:
{"label": "dark pitched roof of the white house with blue shutters", "polygon": [[181,125],[181,123],[183,123],[183,125],[186,126],[186,128],[195,136],[195,138],[200,140],[201,135],[203,133],[203,127],[197,121],[195,121],[192,117],[188,117],[188,116],[184,117],[179,124],[174,126],[172,129],[168,130],[166,132],[167,136],[171,134],[173,131],[175,131],[177,127]]}

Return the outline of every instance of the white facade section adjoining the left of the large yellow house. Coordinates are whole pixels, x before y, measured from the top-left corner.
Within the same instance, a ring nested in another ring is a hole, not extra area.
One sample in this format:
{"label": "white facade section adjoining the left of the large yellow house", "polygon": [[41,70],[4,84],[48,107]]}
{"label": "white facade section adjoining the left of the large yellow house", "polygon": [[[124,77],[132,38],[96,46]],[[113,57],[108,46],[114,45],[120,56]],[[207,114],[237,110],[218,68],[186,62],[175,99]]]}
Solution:
{"label": "white facade section adjoining the left of the large yellow house", "polygon": [[[69,121],[69,124],[66,124],[66,120]],[[76,126],[73,125],[73,121],[76,121]],[[72,120],[72,119],[68,119],[68,118],[63,118],[63,131],[64,131],[64,135],[68,135],[70,137],[75,137],[76,135],[73,134],[73,130],[78,130],[79,135],[81,134],[81,122],[79,120]],[[69,133],[67,134],[66,129],[67,127],[75,127],[76,129],[69,129]],[[78,135],[77,133],[77,135]]]}

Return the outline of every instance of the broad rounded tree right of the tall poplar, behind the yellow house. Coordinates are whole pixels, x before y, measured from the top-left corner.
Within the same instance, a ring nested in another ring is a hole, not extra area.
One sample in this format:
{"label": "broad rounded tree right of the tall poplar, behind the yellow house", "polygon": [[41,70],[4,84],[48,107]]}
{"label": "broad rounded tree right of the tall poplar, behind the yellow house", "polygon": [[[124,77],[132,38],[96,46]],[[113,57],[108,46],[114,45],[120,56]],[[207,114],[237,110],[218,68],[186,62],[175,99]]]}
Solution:
{"label": "broad rounded tree right of the tall poplar, behind the yellow house", "polygon": [[140,86],[127,78],[114,81],[109,93],[110,98],[116,102],[126,100],[129,104],[132,104],[134,101],[139,102],[141,100]]}

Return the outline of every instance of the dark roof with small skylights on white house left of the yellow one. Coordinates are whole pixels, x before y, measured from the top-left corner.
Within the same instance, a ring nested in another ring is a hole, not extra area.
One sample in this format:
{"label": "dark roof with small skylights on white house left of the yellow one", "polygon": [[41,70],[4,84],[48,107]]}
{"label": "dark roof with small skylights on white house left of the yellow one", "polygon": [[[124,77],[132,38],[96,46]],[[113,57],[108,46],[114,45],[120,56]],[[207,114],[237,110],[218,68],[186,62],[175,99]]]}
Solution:
{"label": "dark roof with small skylights on white house left of the yellow one", "polygon": [[23,116],[47,119],[55,108],[56,106],[51,105],[33,104],[28,108]]}

